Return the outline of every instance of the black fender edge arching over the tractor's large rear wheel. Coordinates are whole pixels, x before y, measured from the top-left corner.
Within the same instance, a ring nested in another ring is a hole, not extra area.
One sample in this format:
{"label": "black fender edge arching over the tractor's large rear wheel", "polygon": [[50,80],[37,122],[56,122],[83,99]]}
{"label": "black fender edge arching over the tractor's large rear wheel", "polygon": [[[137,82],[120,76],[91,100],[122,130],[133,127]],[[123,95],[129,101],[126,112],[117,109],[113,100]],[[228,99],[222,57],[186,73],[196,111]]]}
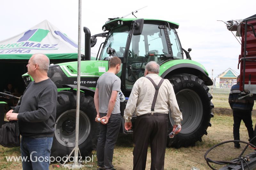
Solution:
{"label": "black fender edge arching over the tractor's large rear wheel", "polygon": [[191,63],[176,64],[169,69],[165,70],[160,76],[165,78],[167,75],[173,75],[177,73],[193,74],[204,81],[205,85],[212,85],[212,79],[205,73],[202,67]]}

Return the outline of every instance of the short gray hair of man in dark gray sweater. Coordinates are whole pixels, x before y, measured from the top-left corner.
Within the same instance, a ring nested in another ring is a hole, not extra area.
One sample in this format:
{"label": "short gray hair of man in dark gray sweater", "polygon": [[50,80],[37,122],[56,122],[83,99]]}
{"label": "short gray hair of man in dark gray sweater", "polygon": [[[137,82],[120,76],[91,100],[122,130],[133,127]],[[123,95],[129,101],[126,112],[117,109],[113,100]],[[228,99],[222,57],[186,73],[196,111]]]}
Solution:
{"label": "short gray hair of man in dark gray sweater", "polygon": [[50,59],[46,55],[42,53],[36,53],[32,56],[34,56],[32,62],[33,64],[38,64],[39,70],[44,70],[46,72],[49,70]]}

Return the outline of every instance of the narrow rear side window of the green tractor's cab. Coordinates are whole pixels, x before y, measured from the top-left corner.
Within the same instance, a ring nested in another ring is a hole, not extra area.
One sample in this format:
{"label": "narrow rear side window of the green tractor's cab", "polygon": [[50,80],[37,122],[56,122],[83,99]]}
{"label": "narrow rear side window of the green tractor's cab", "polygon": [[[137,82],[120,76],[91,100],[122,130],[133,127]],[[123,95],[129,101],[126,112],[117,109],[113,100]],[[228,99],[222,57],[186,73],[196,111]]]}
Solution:
{"label": "narrow rear side window of the green tractor's cab", "polygon": [[177,34],[175,33],[174,29],[171,29],[171,31],[168,30],[168,34],[170,37],[170,41],[172,44],[172,54],[174,59],[183,59],[183,55],[181,54],[182,50],[180,47],[180,42],[177,37]]}

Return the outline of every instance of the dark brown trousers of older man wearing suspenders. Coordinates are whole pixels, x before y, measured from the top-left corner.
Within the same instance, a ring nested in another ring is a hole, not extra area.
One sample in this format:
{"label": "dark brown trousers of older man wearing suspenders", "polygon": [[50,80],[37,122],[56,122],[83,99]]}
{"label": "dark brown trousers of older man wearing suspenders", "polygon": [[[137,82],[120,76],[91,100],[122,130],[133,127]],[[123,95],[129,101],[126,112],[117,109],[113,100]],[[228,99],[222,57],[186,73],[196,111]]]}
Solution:
{"label": "dark brown trousers of older man wearing suspenders", "polygon": [[138,116],[133,131],[133,169],[146,168],[148,144],[151,148],[151,170],[164,169],[168,114]]}

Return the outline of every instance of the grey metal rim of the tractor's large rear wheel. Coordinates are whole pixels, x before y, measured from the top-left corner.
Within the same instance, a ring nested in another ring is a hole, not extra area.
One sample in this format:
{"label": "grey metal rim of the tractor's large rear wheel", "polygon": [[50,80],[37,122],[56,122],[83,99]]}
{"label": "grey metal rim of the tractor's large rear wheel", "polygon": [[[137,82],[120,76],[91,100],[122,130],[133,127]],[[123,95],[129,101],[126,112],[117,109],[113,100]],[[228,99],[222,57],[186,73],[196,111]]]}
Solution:
{"label": "grey metal rim of the tractor's large rear wheel", "polygon": [[[181,134],[189,134],[196,130],[203,117],[203,104],[198,94],[190,89],[181,90],[176,99],[182,113]],[[171,119],[172,125],[174,124]]]}

